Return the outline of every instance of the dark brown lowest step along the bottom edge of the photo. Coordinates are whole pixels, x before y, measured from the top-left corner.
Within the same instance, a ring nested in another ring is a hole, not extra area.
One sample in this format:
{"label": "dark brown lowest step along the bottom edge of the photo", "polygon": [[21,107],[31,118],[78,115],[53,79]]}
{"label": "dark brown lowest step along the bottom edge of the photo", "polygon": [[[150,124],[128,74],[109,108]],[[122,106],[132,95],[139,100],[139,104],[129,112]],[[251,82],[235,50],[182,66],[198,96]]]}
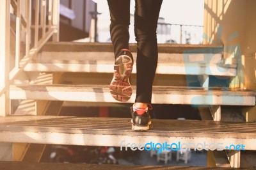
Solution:
{"label": "dark brown lowest step along the bottom edge of the photo", "polygon": [[[195,166],[139,166],[139,165],[111,165],[111,164],[63,164],[63,163],[45,163],[45,162],[10,162],[1,161],[0,167],[2,169],[17,170],[85,170],[85,169],[99,169],[99,170],[124,170],[124,169],[157,169],[157,170],[167,170],[167,169],[184,169],[184,170],[205,170],[205,167],[195,167]],[[207,169],[233,169],[233,168],[220,168],[220,167],[206,167]],[[243,168],[239,168],[243,169]],[[245,169],[245,168],[244,168]]]}

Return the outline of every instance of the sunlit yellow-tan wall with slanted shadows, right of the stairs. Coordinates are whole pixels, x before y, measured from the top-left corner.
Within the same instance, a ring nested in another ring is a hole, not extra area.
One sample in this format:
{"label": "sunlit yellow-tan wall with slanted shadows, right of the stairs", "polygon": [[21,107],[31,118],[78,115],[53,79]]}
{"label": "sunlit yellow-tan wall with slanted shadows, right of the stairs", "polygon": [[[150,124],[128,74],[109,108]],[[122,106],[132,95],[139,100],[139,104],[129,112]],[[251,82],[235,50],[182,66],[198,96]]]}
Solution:
{"label": "sunlit yellow-tan wall with slanted shadows, right of the stairs", "polygon": [[[256,91],[255,27],[255,0],[205,0],[204,43],[224,45],[225,62],[237,63],[232,88]],[[255,121],[256,107],[244,109],[244,116],[247,121]]]}

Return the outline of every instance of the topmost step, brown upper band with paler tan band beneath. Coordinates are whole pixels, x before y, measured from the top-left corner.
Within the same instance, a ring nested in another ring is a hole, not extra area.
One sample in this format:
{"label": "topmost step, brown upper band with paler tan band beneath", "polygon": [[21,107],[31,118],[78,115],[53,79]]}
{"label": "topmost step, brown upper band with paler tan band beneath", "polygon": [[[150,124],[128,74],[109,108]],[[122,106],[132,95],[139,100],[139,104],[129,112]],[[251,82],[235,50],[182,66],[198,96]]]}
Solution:
{"label": "topmost step, brown upper band with paler tan band beneath", "polygon": [[[130,49],[136,62],[136,44],[130,44]],[[158,44],[158,61],[160,63],[199,62],[209,63],[212,56],[220,59],[223,53],[222,46],[216,45],[186,45],[186,44]],[[204,54],[205,56],[202,56]],[[198,58],[197,58],[198,57]],[[74,43],[51,42],[46,43],[36,60],[40,62],[55,61],[114,61],[113,46],[111,43]]]}

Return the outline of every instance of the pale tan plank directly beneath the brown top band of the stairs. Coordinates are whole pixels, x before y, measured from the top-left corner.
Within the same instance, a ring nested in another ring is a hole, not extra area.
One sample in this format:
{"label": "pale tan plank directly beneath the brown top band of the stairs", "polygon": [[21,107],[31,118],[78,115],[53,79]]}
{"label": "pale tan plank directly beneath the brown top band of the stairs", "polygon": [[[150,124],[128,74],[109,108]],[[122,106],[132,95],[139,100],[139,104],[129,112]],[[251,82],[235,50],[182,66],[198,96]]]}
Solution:
{"label": "pale tan plank directly beneath the brown top band of the stairs", "polygon": [[[137,53],[132,52],[134,62],[137,59]],[[222,54],[193,54],[193,53],[159,53],[158,62],[159,63],[218,63],[221,65]],[[83,61],[115,61],[113,52],[100,52],[100,51],[83,51],[83,52],[73,52],[73,51],[42,51],[36,58],[31,61],[31,63],[83,63]],[[230,63],[235,63],[229,62]]]}

